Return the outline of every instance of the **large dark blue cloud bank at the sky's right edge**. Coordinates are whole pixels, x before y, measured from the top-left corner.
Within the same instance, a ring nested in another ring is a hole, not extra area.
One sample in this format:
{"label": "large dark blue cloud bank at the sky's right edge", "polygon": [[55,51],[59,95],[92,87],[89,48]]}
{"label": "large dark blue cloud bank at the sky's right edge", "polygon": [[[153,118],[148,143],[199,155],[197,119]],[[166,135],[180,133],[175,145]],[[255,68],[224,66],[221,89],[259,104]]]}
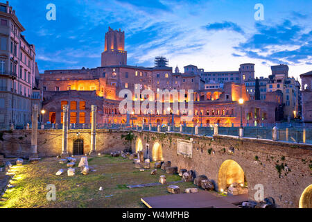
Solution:
{"label": "large dark blue cloud bank at the sky's right edge", "polygon": [[277,25],[257,23],[255,28],[255,34],[234,47],[245,56],[277,64],[302,64],[312,55],[312,31],[306,33],[288,19]]}

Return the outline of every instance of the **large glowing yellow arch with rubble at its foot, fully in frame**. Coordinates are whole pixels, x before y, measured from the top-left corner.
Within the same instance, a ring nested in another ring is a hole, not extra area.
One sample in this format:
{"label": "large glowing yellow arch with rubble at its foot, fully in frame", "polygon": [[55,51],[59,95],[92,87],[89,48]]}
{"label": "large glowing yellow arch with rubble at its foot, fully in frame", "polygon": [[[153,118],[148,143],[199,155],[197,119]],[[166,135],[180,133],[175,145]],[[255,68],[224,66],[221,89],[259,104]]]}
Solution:
{"label": "large glowing yellow arch with rubble at its foot, fully in frame", "polygon": [[247,187],[245,173],[241,166],[234,160],[225,160],[221,164],[218,174],[219,191],[227,191],[234,182],[240,187]]}

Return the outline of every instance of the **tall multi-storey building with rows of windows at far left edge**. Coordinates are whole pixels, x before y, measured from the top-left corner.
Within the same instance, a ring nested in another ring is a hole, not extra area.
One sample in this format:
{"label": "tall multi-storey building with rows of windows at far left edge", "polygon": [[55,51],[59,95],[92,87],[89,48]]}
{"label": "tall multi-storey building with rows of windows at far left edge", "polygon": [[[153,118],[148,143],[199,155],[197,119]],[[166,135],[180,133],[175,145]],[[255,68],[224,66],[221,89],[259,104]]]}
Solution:
{"label": "tall multi-storey building with rows of windows at far left edge", "polygon": [[[31,122],[35,46],[29,44],[15,10],[0,3],[0,124]],[[40,96],[39,96],[40,97]]]}

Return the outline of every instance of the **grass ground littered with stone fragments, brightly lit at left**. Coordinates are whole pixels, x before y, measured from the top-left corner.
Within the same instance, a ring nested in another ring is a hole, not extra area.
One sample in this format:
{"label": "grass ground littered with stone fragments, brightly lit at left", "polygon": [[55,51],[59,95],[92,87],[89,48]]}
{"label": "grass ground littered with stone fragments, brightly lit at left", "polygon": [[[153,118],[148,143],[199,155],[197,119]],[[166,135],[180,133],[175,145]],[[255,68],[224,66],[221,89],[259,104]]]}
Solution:
{"label": "grass ground littered with stone fragments, brightly lit at left", "polygon": [[[77,162],[79,158],[77,157]],[[60,164],[57,158],[46,158],[37,164],[25,164],[16,169],[15,180],[12,185],[16,187],[4,194],[6,201],[0,202],[3,208],[142,208],[141,198],[148,196],[171,195],[166,187],[144,187],[128,189],[127,185],[139,185],[159,182],[159,176],[166,176],[168,182],[180,181],[182,178],[168,175],[165,171],[157,169],[157,175],[150,175],[154,169],[145,169],[140,172],[135,169],[132,160],[122,157],[90,157],[89,166],[96,169],[83,176],[80,169],[75,167],[76,175],[67,176],[66,165]],[[76,164],[77,166],[78,164]],[[151,166],[154,164],[151,163]],[[59,169],[65,172],[55,176]],[[46,194],[48,185],[55,185],[56,200],[48,201]],[[178,183],[181,191],[196,187],[192,182]],[[99,188],[103,187],[103,191]]]}

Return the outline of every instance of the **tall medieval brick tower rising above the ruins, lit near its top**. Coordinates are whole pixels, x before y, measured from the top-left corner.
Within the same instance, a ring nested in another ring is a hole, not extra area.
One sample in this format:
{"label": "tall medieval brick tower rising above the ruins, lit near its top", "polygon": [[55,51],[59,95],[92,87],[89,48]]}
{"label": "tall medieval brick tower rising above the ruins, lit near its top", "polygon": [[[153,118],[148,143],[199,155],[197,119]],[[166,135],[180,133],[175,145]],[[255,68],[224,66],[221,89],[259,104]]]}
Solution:
{"label": "tall medieval brick tower rising above the ruins, lit near its top", "polygon": [[127,65],[127,52],[125,51],[125,32],[114,31],[108,28],[105,34],[105,49],[102,53],[101,66]]}

